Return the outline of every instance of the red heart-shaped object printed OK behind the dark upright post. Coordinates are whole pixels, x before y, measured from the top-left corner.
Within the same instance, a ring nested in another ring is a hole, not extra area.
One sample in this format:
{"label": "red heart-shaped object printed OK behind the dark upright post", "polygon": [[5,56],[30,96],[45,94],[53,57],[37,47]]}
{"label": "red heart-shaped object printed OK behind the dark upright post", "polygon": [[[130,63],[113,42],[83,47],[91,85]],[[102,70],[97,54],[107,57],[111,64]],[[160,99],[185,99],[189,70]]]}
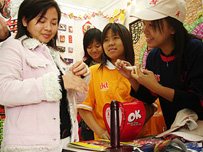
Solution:
{"label": "red heart-shaped object printed OK behind the dark upright post", "polygon": [[[106,128],[110,134],[110,103],[104,106],[103,117]],[[144,123],[145,107],[141,101],[119,102],[120,141],[135,139],[142,130]]]}

